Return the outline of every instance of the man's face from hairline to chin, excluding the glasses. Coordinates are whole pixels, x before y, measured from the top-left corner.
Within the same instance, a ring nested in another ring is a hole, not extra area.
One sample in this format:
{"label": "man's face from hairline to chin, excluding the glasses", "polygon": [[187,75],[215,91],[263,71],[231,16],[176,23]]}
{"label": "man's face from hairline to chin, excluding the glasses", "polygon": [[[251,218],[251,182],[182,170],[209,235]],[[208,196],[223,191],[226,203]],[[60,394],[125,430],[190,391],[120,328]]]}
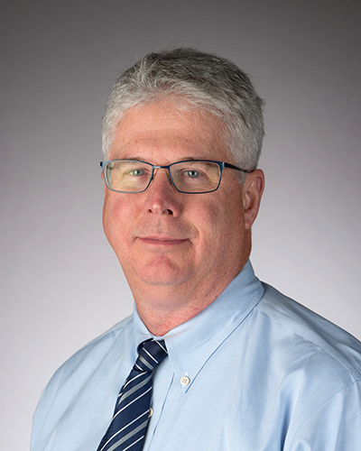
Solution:
{"label": "man's face from hairline to chin, excluding the glasses", "polygon": [[[235,163],[221,136],[213,116],[177,110],[171,101],[133,107],[116,128],[109,159]],[[171,289],[186,298],[236,276],[250,252],[251,226],[237,177],[236,170],[226,169],[217,191],[183,194],[171,186],[167,170],[157,169],[143,193],[106,189],[106,237],[133,292],[156,289],[161,296]]]}

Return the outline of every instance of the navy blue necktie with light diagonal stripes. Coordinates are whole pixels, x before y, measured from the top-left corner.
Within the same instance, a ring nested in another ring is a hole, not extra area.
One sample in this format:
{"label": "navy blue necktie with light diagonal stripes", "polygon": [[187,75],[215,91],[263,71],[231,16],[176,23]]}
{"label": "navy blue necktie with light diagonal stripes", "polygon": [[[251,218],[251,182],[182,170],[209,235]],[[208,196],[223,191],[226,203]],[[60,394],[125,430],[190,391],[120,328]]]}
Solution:
{"label": "navy blue necktie with light diagonal stripes", "polygon": [[139,356],[119,391],[116,409],[97,451],[140,451],[150,417],[153,369],[167,355],[164,340],[144,341]]}

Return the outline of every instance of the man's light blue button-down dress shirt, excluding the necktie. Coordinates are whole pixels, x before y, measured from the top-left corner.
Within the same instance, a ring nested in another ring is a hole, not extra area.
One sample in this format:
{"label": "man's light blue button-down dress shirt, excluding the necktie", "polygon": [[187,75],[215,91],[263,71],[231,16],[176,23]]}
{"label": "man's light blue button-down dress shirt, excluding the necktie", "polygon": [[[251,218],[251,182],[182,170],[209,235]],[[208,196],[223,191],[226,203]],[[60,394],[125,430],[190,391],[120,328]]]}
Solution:
{"label": "man's light blue button-down dress shirt, excluding the necktie", "polygon": [[[63,364],[35,412],[32,451],[96,451],[149,337],[134,309]],[[361,343],[262,284],[250,262],[164,339],[144,451],[361,450]]]}

